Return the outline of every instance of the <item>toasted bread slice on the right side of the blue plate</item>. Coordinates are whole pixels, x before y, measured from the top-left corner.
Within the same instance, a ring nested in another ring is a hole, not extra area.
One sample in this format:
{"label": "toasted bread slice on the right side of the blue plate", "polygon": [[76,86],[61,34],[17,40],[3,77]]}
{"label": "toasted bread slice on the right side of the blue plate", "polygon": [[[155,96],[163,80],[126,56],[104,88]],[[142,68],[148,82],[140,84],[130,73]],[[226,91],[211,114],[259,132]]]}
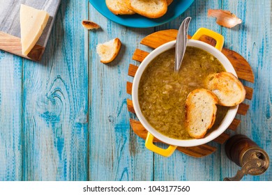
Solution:
{"label": "toasted bread slice on the right side of the blue plate", "polygon": [[126,0],[128,8],[139,15],[158,18],[167,12],[166,0]]}

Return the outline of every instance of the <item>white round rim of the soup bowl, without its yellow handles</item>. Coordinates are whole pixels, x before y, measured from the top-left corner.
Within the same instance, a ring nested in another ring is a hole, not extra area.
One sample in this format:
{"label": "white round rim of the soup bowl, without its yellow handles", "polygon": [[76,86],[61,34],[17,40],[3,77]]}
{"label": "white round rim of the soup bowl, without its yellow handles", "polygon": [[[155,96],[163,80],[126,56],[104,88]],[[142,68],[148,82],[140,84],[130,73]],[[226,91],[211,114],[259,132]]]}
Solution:
{"label": "white round rim of the soup bowl, without its yellow handles", "polygon": [[[167,42],[164,45],[161,45],[160,47],[154,49],[153,52],[151,52],[148,56],[146,56],[144,61],[142,61],[141,65],[139,65],[139,68],[136,72],[136,75],[133,81],[133,93],[132,93],[133,107],[142,125],[144,125],[146,130],[148,130],[154,137],[156,137],[157,139],[160,139],[160,141],[163,141],[173,146],[183,146],[183,147],[199,146],[204,143],[208,143],[209,141],[212,141],[213,139],[216,139],[216,137],[220,136],[220,134],[222,134],[223,132],[225,132],[225,130],[227,130],[227,127],[229,127],[229,125],[232,123],[232,120],[234,119],[236,115],[238,105],[235,107],[229,108],[227,115],[222,120],[222,123],[220,123],[220,126],[216,130],[213,130],[213,132],[211,132],[210,134],[207,134],[206,137],[202,139],[190,139],[190,140],[172,139],[165,136],[164,134],[161,134],[147,122],[146,118],[144,118],[142,111],[139,107],[138,88],[139,88],[139,81],[142,77],[144,70],[146,69],[147,65],[149,65],[149,63],[153,59],[156,58],[156,56],[167,51],[168,49],[174,48],[175,44],[176,44],[176,40]],[[213,56],[215,56],[222,63],[222,65],[224,65],[227,72],[232,72],[237,77],[236,72],[232,64],[227,59],[227,57],[215,47],[199,40],[188,40],[187,46],[198,47],[200,49],[204,49],[206,52],[209,52],[210,54],[213,54]]]}

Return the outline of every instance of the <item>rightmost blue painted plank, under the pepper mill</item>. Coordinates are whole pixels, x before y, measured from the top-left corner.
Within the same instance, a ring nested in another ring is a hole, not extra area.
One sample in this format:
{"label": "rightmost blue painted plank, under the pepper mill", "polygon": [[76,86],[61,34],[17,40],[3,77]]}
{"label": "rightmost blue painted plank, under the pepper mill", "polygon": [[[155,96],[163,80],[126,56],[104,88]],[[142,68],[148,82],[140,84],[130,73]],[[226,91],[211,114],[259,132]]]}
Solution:
{"label": "rightmost blue painted plank, under the pepper mill", "polygon": [[[243,81],[254,89],[248,114],[241,116],[237,133],[245,134],[255,141],[266,153],[272,156],[271,123],[271,2],[264,1],[224,1],[223,8],[230,10],[243,21],[233,29],[222,28],[227,47],[241,54],[251,65],[255,84]],[[233,133],[234,134],[234,133]],[[225,153],[222,150],[222,153]],[[222,178],[234,176],[240,169],[229,159],[222,156]],[[243,180],[272,180],[271,166],[262,176],[246,176]]]}

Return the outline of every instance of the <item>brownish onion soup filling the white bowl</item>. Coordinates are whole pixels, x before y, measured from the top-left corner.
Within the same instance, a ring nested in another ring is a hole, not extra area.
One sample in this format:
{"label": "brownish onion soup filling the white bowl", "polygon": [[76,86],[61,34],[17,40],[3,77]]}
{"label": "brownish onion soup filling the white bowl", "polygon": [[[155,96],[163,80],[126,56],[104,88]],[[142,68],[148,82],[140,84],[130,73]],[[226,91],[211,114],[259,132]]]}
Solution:
{"label": "brownish onion soup filling the white bowl", "polygon": [[[215,56],[197,47],[187,47],[179,72],[174,72],[174,49],[156,56],[139,81],[139,106],[149,124],[173,139],[192,139],[185,128],[185,102],[190,91],[204,88],[204,79],[225,68]],[[218,106],[220,125],[227,107]]]}

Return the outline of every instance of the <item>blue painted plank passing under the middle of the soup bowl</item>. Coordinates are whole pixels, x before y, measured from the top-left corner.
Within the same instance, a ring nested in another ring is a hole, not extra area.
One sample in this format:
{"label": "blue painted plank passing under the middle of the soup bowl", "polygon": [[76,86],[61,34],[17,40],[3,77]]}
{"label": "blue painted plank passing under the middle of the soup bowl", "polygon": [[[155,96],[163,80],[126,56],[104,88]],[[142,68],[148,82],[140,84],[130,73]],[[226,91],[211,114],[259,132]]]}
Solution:
{"label": "blue painted plank passing under the middle of the soup bowl", "polygon": [[[205,27],[220,33],[220,26],[215,25],[207,17],[209,8],[221,8],[221,1],[201,1],[196,0],[192,6],[186,10],[179,18],[158,26],[156,31],[162,29],[179,29],[181,22],[188,16],[192,17],[188,33],[193,35],[200,27]],[[219,180],[220,179],[220,145],[209,143],[216,146],[218,150],[212,155],[202,158],[195,158],[180,153],[178,150],[171,157],[165,158],[154,155],[154,180]],[[160,144],[161,147],[166,146]]]}

